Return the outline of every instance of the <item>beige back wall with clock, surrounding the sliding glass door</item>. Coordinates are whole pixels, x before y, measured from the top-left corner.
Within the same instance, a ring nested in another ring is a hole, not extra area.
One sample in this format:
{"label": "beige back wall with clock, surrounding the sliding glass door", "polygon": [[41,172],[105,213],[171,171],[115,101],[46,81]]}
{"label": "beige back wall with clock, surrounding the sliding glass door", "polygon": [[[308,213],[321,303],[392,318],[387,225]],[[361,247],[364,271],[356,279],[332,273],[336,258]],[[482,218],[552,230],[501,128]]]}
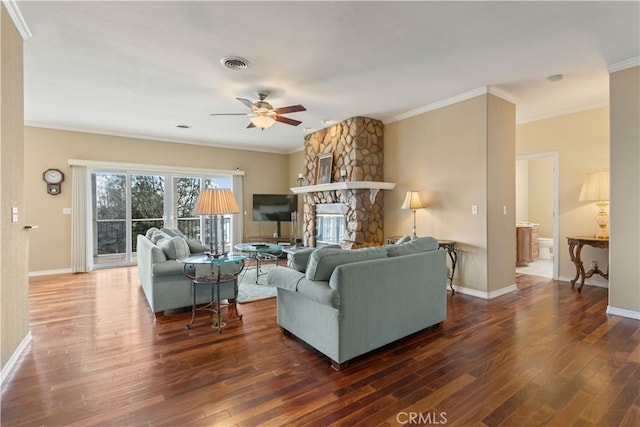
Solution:
{"label": "beige back wall with clock, surrounding the sliding glass door", "polygon": [[[83,132],[26,127],[25,187],[27,221],[38,224],[31,233],[29,271],[71,268],[71,168],[69,159],[122,162],[203,169],[245,171],[245,235],[271,235],[275,223],[251,220],[253,193],[289,193],[289,156],[266,152],[212,148]],[[302,140],[301,140],[302,143]],[[42,172],[58,168],[65,174],[60,195],[46,193]]]}

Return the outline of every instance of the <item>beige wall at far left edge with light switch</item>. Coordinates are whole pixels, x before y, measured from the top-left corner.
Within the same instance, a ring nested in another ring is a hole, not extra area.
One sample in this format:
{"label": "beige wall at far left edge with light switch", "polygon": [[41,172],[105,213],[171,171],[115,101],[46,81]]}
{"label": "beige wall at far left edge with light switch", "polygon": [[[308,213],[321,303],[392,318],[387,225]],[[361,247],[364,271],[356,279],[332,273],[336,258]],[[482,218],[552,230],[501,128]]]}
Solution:
{"label": "beige wall at far left edge with light switch", "polygon": [[[0,330],[3,378],[29,335],[27,254],[24,229],[22,38],[0,7]],[[12,222],[11,208],[18,209]],[[6,368],[6,369],[5,369]]]}

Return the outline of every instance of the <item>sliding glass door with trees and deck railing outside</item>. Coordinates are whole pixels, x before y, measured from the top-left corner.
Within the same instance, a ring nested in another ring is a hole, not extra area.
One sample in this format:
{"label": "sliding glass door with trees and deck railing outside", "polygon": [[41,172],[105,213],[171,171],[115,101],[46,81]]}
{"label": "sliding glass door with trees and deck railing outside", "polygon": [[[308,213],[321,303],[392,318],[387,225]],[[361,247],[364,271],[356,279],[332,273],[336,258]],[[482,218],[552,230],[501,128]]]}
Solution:
{"label": "sliding glass door with trees and deck railing outside", "polygon": [[[208,243],[208,218],[193,212],[198,194],[202,188],[231,188],[232,180],[228,175],[96,170],[91,184],[93,264],[119,266],[136,262],[137,235],[151,227],[178,228],[188,238]],[[223,224],[225,244],[230,245],[231,218]]]}

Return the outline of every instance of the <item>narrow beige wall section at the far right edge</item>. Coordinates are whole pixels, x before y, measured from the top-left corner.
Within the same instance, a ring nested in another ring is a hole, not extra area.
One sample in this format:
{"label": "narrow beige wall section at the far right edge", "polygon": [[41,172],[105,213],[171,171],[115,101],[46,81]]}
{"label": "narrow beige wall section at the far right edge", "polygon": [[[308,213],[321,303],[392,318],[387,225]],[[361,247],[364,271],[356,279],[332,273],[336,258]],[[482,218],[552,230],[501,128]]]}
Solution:
{"label": "narrow beige wall section at the far right edge", "polygon": [[609,76],[611,268],[609,309],[640,316],[640,67]]}

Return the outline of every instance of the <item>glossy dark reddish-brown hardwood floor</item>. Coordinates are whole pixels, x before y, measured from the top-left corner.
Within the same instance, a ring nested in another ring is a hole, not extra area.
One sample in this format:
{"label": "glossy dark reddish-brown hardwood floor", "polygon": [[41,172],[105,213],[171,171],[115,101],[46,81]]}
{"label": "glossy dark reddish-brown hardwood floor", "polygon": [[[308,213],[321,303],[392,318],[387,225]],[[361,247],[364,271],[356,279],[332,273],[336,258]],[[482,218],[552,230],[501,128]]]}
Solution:
{"label": "glossy dark reddish-brown hardwood floor", "polygon": [[449,293],[440,328],[341,372],[280,332],[275,299],[218,334],[205,314],[156,318],[135,268],[35,277],[30,297],[3,426],[640,425],[640,322],[607,316],[602,288]]}

